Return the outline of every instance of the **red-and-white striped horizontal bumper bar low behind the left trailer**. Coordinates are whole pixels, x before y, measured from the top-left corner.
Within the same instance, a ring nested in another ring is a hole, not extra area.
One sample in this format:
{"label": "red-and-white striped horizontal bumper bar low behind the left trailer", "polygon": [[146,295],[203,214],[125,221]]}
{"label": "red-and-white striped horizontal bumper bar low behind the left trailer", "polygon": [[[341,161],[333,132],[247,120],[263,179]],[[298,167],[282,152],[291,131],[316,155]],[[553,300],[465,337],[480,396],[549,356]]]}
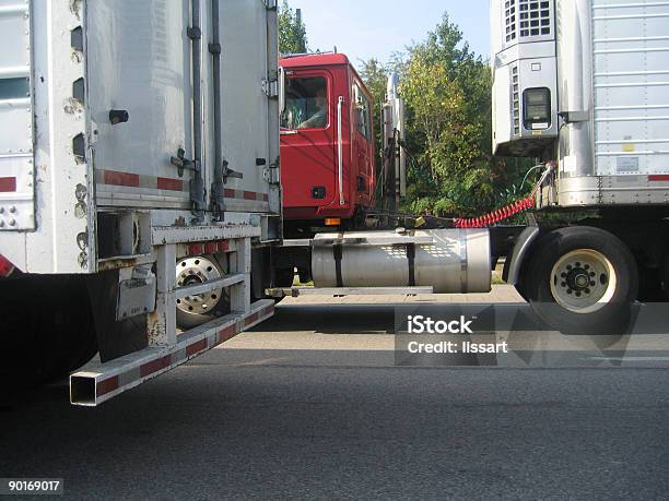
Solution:
{"label": "red-and-white striped horizontal bumper bar low behind the left trailer", "polygon": [[253,327],[274,313],[274,301],[251,305],[246,314],[233,313],[179,334],[169,347],[150,347],[105,363],[93,362],[70,375],[70,402],[95,407],[140,385]]}

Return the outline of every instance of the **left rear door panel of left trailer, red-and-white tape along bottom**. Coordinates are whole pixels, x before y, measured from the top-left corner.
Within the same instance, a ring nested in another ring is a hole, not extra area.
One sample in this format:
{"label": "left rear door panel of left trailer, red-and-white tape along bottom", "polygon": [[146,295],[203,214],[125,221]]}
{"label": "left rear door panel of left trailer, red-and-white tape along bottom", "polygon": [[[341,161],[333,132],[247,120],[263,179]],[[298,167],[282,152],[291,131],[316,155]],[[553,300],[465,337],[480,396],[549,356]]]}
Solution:
{"label": "left rear door panel of left trailer, red-and-white tape along bottom", "polygon": [[189,2],[89,0],[86,19],[97,204],[189,208],[171,164],[192,159]]}

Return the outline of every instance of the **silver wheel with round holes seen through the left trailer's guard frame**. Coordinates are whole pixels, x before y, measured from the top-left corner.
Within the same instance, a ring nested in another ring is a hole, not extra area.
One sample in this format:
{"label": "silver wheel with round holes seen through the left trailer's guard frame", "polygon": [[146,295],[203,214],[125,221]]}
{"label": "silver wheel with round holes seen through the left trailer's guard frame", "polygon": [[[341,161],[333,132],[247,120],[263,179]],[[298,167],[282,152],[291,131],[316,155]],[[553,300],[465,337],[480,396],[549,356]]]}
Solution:
{"label": "silver wheel with round holes seen through the left trailer's guard frame", "polygon": [[[213,255],[179,260],[176,267],[178,287],[204,284],[226,274],[224,266]],[[193,329],[230,313],[230,297],[225,289],[177,299],[176,321],[181,329]]]}

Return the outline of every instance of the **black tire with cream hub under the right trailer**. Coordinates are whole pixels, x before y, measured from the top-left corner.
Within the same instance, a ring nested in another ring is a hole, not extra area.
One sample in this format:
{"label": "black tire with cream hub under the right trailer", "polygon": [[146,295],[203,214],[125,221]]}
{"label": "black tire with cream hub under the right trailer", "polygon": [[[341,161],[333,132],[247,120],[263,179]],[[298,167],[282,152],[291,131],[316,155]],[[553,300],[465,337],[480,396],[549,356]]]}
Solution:
{"label": "black tire with cream hub under the right trailer", "polygon": [[565,334],[629,331],[638,290],[634,257],[599,228],[561,228],[541,238],[524,267],[523,288],[535,312]]}

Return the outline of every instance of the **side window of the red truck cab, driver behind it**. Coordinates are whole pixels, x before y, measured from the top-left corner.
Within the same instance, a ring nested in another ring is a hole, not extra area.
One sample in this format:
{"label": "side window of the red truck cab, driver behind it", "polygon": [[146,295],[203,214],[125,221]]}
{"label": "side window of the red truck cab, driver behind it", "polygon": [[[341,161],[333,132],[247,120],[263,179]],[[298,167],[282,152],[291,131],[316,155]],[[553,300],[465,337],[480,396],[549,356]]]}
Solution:
{"label": "side window of the red truck cab, driver behind it", "polygon": [[328,85],[322,76],[289,79],[283,129],[322,129],[328,124]]}

